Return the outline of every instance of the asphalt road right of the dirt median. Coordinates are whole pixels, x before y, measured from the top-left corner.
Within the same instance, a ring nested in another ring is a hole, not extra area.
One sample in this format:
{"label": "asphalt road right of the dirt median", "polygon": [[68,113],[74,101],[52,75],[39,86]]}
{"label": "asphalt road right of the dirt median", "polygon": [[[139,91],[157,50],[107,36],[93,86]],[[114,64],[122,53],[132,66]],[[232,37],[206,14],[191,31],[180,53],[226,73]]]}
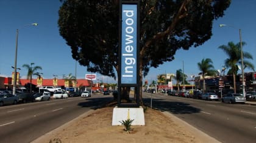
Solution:
{"label": "asphalt road right of the dirt median", "polygon": [[193,125],[220,142],[256,142],[256,106],[143,93],[144,104]]}

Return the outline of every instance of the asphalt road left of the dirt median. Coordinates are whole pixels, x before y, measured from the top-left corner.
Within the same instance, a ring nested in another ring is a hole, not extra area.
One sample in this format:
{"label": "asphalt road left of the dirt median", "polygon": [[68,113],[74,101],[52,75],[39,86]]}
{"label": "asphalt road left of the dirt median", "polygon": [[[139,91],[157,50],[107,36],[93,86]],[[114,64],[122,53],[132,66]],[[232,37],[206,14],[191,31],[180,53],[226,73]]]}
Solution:
{"label": "asphalt road left of the dirt median", "polygon": [[94,95],[0,107],[0,142],[33,141],[112,100],[113,96]]}

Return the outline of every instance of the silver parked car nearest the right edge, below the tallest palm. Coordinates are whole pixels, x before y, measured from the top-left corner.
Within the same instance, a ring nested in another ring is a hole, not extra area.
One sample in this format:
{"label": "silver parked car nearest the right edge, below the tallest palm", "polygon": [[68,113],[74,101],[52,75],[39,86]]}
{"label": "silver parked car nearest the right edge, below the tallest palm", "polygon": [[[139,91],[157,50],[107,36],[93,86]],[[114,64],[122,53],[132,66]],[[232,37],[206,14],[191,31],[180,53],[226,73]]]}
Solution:
{"label": "silver parked car nearest the right edge, below the tallest palm", "polygon": [[235,102],[240,102],[240,103],[245,103],[246,98],[243,97],[239,93],[229,93],[227,95],[224,95],[221,99],[222,102],[229,102],[229,103],[235,103]]}

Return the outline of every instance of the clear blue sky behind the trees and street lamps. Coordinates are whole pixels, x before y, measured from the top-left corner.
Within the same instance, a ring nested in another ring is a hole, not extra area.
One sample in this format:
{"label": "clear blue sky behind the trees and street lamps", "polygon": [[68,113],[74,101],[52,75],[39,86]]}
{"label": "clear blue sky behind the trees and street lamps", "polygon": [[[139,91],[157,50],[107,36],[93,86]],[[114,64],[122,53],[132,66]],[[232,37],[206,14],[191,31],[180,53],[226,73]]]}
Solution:
{"label": "clear blue sky behind the trees and street lamps", "polygon": [[[44,79],[63,78],[69,73],[76,75],[77,79],[85,79],[85,74],[90,74],[86,67],[76,64],[71,56],[71,48],[59,34],[57,21],[59,8],[62,2],[59,0],[0,0],[0,76],[12,77],[15,62],[16,29],[18,34],[17,70],[21,78],[26,78],[27,70],[24,64],[35,63],[43,70]],[[177,50],[174,61],[165,62],[158,68],[150,68],[148,76],[143,80],[156,80],[161,73],[176,73],[182,69],[188,79],[190,75],[198,75],[198,62],[210,58],[216,70],[221,69],[226,53],[218,47],[227,45],[232,41],[235,44],[241,39],[246,42],[244,52],[249,52],[254,57],[249,60],[256,67],[256,1],[233,0],[225,15],[213,21],[212,38],[199,47],[191,47],[189,50]],[[38,26],[30,25],[38,23]],[[233,27],[219,27],[219,24],[232,25]],[[252,71],[245,69],[244,72]],[[238,71],[239,72],[239,71]],[[240,71],[241,73],[241,71]],[[103,82],[117,83],[113,78],[102,76],[97,78]],[[37,78],[37,76],[33,76]]]}

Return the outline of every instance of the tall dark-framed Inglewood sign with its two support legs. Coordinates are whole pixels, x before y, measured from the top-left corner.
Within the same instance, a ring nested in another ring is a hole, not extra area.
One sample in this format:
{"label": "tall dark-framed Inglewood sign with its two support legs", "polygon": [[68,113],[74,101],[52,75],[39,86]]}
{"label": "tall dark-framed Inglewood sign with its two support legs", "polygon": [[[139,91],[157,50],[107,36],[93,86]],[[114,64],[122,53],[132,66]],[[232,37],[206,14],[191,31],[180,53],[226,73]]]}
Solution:
{"label": "tall dark-framed Inglewood sign with its two support legs", "polygon": [[137,105],[140,105],[139,68],[139,1],[119,2],[119,76],[118,107],[121,104],[121,88],[135,87]]}

